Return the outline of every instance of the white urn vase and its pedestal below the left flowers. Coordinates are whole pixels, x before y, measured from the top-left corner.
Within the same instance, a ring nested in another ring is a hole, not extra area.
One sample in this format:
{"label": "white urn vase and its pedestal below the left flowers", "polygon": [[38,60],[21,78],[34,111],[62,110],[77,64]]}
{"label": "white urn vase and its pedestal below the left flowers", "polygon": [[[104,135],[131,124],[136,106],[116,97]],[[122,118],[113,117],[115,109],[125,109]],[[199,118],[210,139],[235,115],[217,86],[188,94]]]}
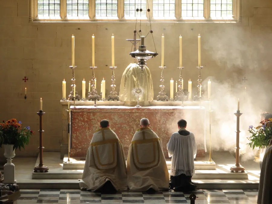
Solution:
{"label": "white urn vase and its pedestal below the left flowers", "polygon": [[7,158],[7,163],[4,165],[4,183],[15,183],[15,165],[12,164],[12,158],[15,157],[13,144],[3,144],[5,149],[4,156]]}

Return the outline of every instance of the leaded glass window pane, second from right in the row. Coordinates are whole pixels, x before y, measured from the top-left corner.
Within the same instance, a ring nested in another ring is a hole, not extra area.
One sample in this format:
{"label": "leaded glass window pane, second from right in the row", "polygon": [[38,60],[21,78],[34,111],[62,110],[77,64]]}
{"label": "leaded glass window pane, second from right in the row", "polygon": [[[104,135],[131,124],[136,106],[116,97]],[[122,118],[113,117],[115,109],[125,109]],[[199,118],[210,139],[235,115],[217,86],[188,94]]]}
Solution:
{"label": "leaded glass window pane, second from right in the row", "polygon": [[204,0],[181,0],[182,17],[203,17]]}

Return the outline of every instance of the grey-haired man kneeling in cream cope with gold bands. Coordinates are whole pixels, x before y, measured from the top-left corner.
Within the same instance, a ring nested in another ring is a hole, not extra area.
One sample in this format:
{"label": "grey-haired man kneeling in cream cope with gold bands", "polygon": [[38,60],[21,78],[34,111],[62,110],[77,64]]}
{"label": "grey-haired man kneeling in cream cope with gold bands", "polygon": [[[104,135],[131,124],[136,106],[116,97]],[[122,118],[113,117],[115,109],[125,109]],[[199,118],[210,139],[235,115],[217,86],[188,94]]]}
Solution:
{"label": "grey-haired man kneeling in cream cope with gold bands", "polygon": [[147,118],[139,128],[128,150],[128,187],[131,191],[169,189],[169,174],[160,138],[149,128]]}

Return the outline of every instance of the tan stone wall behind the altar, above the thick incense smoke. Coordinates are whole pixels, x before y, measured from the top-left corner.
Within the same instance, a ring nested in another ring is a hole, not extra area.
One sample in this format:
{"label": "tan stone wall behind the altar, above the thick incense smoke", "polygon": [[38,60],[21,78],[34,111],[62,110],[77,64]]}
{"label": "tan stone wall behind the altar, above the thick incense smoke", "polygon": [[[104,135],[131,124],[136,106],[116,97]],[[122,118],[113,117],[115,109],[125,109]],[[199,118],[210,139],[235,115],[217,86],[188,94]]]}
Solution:
{"label": "tan stone wall behind the altar, above the thick incense smoke", "polygon": [[[183,37],[184,81],[189,78],[196,86],[197,35],[201,34],[202,78],[209,76],[218,81],[226,78],[239,81],[249,71],[249,82],[260,83],[269,79],[271,72],[272,1],[243,0],[242,22],[154,22],[154,40],[160,53],[161,35],[165,35],[166,91],[173,77],[178,79],[178,36]],[[35,156],[38,152],[38,116],[40,97],[43,98],[45,151],[60,151],[62,142],[63,78],[70,90],[71,36],[75,35],[75,64],[77,91],[81,95],[81,81],[91,79],[91,36],[95,35],[96,79],[104,77],[109,92],[111,71],[111,35],[115,35],[115,71],[117,91],[122,72],[133,62],[129,56],[133,37],[133,22],[28,22],[28,0],[2,0],[0,2],[0,119],[17,118],[23,125],[36,131],[25,150],[17,156]],[[143,33],[149,24],[142,23]],[[151,36],[147,49],[155,51]],[[160,85],[160,55],[147,61],[157,96]],[[28,81],[22,80],[26,76]],[[257,81],[256,76],[259,76]],[[240,82],[240,81],[239,81]],[[187,89],[187,83],[184,83]],[[24,89],[27,88],[27,99]],[[89,142],[89,141],[88,141]],[[2,155],[2,154],[0,154]]]}

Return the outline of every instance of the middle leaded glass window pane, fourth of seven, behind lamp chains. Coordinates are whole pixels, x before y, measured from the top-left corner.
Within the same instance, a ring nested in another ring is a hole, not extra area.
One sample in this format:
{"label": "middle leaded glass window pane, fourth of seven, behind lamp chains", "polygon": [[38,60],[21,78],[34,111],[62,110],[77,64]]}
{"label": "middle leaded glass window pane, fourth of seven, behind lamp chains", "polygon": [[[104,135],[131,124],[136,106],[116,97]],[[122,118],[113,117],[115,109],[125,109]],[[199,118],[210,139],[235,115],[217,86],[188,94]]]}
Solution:
{"label": "middle leaded glass window pane, fourth of seven, behind lamp chains", "polygon": [[[136,11],[142,8],[143,11]],[[146,0],[124,0],[125,17],[145,17],[146,16]]]}

